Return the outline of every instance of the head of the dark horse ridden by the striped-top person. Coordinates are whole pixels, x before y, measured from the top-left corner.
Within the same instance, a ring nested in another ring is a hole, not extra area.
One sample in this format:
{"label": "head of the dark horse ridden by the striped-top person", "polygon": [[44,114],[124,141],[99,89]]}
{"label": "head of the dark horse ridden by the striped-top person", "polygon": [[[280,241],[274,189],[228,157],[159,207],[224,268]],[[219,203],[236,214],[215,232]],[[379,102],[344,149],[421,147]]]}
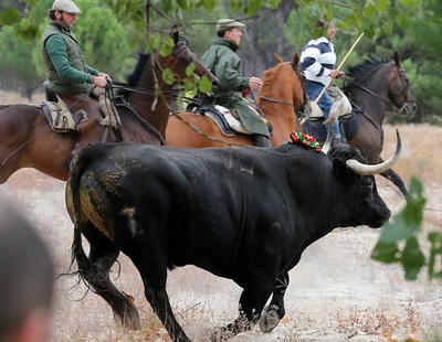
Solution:
{"label": "head of the dark horse ridden by the striped-top person", "polygon": [[394,65],[389,75],[388,97],[398,108],[399,113],[413,115],[417,108],[415,99],[410,90],[410,82],[406,70],[401,66],[399,54],[394,53]]}

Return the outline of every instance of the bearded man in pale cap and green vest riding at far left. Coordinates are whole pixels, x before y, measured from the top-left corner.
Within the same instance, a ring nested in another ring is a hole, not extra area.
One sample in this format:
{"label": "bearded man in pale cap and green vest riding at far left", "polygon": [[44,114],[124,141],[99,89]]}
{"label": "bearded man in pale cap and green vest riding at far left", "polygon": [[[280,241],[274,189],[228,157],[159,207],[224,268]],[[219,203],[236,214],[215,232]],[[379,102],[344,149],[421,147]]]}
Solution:
{"label": "bearded man in pale cap and green vest riding at far left", "polygon": [[[88,119],[80,126],[80,141],[73,154],[87,142],[104,140],[105,127],[97,138],[97,121],[103,126],[103,116],[115,118],[109,101],[104,100],[104,87],[110,77],[88,66],[71,28],[80,14],[71,0],[55,0],[49,10],[50,23],[43,32],[42,52],[46,65],[49,86],[70,107],[71,113],[83,109]],[[99,108],[90,97],[99,99]],[[103,114],[103,115],[102,115]],[[114,125],[115,126],[115,125]],[[116,127],[113,127],[116,128]]]}

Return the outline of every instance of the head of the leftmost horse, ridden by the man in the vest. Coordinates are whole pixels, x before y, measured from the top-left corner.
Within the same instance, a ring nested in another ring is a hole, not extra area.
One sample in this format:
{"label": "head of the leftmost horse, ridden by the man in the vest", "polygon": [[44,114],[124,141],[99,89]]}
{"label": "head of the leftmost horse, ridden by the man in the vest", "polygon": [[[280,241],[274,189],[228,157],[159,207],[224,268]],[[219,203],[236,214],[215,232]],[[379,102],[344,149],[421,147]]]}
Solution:
{"label": "head of the leftmost horse, ridden by the man in the vest", "polygon": [[170,38],[175,42],[171,54],[166,56],[161,62],[161,66],[170,68],[180,79],[187,77],[186,68],[190,63],[193,62],[194,71],[193,73],[198,76],[207,76],[212,84],[212,87],[217,87],[219,81],[210,70],[208,70],[202,63],[194,56],[193,52],[190,50],[189,40],[186,35],[180,34],[176,25],[172,26],[170,31]]}

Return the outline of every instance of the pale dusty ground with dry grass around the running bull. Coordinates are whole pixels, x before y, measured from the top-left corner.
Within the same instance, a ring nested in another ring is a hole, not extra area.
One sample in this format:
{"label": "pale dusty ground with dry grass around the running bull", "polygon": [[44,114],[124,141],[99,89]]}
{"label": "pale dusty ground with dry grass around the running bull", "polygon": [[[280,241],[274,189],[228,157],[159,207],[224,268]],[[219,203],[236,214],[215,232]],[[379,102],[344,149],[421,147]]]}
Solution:
{"label": "pale dusty ground with dry grass around the running bull", "polygon": [[[1,100],[0,100],[1,103]],[[394,168],[403,179],[418,175],[428,197],[425,231],[442,231],[442,128],[399,127],[403,156]],[[392,151],[393,129],[386,128],[386,154]],[[378,179],[380,194],[393,213],[404,205],[399,192]],[[64,183],[32,169],[21,170],[0,186],[0,195],[14,202],[42,233],[59,272],[70,264],[72,224],[64,206]],[[337,229],[307,248],[291,271],[286,317],[270,334],[259,329],[231,341],[442,341],[442,286],[422,272],[417,281],[403,280],[399,267],[369,258],[380,231],[367,227]],[[117,328],[107,304],[85,287],[71,290],[72,281],[56,284],[51,342],[168,341],[144,299],[143,286],[130,261],[120,257],[117,287],[131,293],[140,310],[143,330],[125,333]],[[233,320],[241,289],[194,267],[169,274],[168,290],[178,320],[196,341],[207,331]]]}

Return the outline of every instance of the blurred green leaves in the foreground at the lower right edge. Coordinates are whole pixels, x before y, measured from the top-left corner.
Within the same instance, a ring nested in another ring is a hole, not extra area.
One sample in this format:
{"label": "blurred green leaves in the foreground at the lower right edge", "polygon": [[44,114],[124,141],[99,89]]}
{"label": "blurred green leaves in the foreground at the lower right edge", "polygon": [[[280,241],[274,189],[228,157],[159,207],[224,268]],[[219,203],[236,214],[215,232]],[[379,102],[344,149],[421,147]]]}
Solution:
{"label": "blurred green leaves in the foreground at the lower right edge", "polygon": [[442,270],[435,269],[438,257],[442,257],[442,234],[431,232],[428,235],[431,249],[425,258],[418,242],[425,205],[422,184],[412,178],[409,189],[406,207],[385,225],[371,258],[385,264],[400,264],[408,280],[414,280],[425,265],[430,278],[442,278]]}

